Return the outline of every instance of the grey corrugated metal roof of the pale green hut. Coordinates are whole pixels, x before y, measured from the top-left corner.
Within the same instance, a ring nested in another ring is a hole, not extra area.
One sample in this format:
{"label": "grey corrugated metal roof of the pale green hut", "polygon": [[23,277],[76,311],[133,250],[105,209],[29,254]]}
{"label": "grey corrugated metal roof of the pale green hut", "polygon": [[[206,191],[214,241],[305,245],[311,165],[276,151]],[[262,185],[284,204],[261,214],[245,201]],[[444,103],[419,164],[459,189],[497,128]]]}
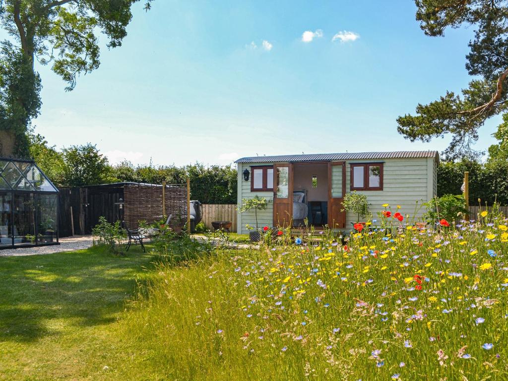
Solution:
{"label": "grey corrugated metal roof of the pale green hut", "polygon": [[392,151],[392,152],[342,152],[315,153],[304,155],[251,156],[239,158],[235,163],[295,163],[322,162],[330,160],[378,160],[388,158],[422,158],[434,157],[439,161],[437,151]]}

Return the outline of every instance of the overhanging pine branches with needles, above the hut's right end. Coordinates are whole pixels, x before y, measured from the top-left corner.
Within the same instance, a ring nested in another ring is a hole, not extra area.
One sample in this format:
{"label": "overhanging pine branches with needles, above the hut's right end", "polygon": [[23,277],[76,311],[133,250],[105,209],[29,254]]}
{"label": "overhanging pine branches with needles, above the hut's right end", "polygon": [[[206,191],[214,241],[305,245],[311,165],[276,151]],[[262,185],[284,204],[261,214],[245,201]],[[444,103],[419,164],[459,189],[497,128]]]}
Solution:
{"label": "overhanging pine branches with needles, above the hut's right end", "polygon": [[444,151],[447,158],[479,154],[472,148],[478,130],[491,116],[508,107],[508,2],[506,0],[415,0],[416,19],[428,36],[462,25],[472,26],[466,69],[476,78],[459,96],[453,91],[427,105],[419,104],[416,115],[397,119],[398,132],[415,141],[452,134]]}

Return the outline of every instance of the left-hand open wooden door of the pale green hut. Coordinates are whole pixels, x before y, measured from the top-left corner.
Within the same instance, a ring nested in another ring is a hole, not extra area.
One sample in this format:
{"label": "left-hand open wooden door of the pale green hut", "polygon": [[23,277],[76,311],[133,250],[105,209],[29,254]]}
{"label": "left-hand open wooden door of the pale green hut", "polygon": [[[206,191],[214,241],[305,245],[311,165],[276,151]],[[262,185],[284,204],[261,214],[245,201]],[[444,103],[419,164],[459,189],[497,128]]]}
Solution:
{"label": "left-hand open wooden door of the pale green hut", "polygon": [[291,226],[293,219],[293,164],[273,165],[273,226]]}

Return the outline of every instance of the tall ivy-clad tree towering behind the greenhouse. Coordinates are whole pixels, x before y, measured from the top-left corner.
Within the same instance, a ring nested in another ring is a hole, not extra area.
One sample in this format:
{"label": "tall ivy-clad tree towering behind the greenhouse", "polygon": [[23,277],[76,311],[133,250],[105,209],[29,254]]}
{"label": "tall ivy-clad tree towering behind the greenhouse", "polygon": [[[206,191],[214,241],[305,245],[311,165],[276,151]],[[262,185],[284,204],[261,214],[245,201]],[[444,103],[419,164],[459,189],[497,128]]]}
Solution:
{"label": "tall ivy-clad tree towering behind the greenhouse", "polygon": [[[140,0],[0,0],[0,23],[12,41],[0,42],[0,155],[26,156],[25,132],[41,107],[41,79],[35,60],[65,80],[100,65],[98,32],[108,48],[121,45]],[[145,0],[145,9],[152,0]]]}

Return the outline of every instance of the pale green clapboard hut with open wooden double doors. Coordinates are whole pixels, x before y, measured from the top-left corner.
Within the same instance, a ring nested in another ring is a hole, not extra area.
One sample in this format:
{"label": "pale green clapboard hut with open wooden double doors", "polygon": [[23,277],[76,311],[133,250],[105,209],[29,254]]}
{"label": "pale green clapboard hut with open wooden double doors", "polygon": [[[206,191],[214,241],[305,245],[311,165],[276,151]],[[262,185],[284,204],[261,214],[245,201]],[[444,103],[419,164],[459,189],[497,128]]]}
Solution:
{"label": "pale green clapboard hut with open wooden double doors", "polygon": [[[242,157],[238,165],[238,205],[265,197],[259,226],[350,229],[357,216],[345,212],[347,192],[365,194],[374,216],[385,203],[400,205],[403,215],[422,217],[422,204],[437,193],[437,151],[320,153]],[[238,215],[238,232],[256,226],[253,211]]]}

